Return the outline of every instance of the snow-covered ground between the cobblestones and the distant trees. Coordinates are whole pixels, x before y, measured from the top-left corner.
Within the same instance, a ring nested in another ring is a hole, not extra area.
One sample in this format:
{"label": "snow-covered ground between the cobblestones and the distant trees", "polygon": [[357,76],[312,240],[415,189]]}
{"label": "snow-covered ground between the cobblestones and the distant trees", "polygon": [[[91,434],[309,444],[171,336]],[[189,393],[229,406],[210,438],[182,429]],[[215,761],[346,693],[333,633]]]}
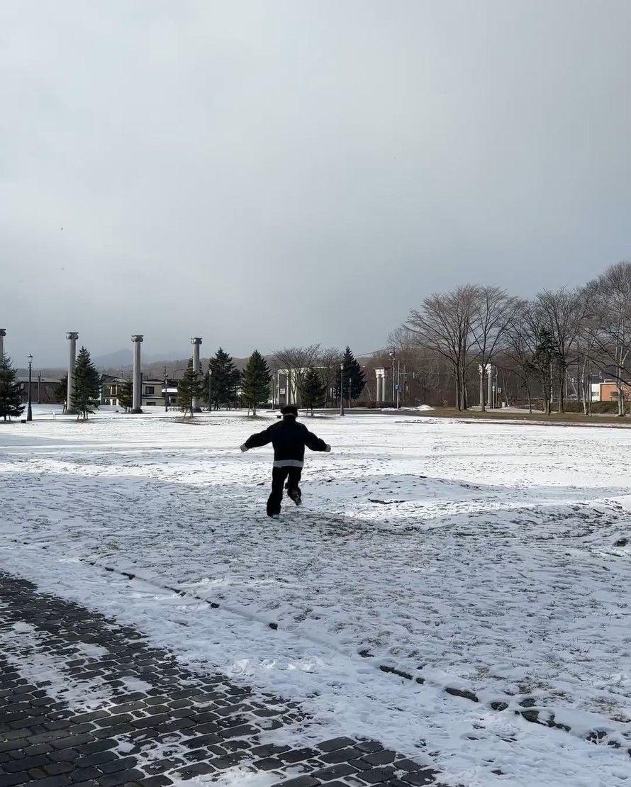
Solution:
{"label": "snow-covered ground between the cobblestones and the distant trees", "polygon": [[0,427],[0,567],[301,700],[293,742],[375,737],[453,784],[631,785],[631,431],[307,418],[334,453],[271,521],[271,451],[238,450],[265,419],[158,415]]}

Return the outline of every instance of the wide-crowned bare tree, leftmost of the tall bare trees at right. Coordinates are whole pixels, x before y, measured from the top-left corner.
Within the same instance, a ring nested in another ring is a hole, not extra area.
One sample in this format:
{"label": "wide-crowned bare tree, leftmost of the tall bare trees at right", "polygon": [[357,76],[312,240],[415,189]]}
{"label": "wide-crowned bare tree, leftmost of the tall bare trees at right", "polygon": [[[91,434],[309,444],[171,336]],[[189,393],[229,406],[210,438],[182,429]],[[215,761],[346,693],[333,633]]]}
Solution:
{"label": "wide-crowned bare tree, leftmost of the tall bare trees at right", "polygon": [[467,409],[467,366],[474,341],[471,325],[478,297],[479,287],[472,284],[431,295],[423,299],[421,309],[411,310],[406,323],[421,344],[451,365],[459,410]]}

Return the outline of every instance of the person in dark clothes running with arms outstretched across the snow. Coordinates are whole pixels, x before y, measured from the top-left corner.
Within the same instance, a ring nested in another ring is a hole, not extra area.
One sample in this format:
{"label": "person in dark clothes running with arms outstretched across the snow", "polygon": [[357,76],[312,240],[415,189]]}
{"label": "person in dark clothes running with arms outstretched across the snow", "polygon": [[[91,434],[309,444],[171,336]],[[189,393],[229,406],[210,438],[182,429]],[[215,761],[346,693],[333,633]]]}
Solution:
{"label": "person in dark clothes running with arms outstretched across the snow", "polygon": [[304,465],[304,446],[312,451],[330,452],[330,445],[315,437],[304,423],[298,423],[298,408],[285,405],[281,408],[282,421],[273,423],[258,434],[253,434],[241,446],[242,451],[260,445],[274,446],[274,467],[271,471],[271,494],[268,498],[268,516],[278,518],[282,501],[282,487],[287,481],[287,495],[296,505],[302,502],[300,480]]}

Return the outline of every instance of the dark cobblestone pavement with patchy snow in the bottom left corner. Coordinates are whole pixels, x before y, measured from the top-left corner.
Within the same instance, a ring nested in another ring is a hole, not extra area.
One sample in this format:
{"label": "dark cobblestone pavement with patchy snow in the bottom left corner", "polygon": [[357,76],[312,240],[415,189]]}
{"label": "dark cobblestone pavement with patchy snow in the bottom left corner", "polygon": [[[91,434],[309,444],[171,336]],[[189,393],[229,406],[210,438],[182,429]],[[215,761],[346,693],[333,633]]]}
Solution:
{"label": "dark cobblestone pavement with patchy snow in the bottom left corner", "polygon": [[304,720],[296,703],[188,671],[137,630],[0,572],[0,787],[159,787],[237,765],[285,787],[437,784],[375,741],[269,742]]}

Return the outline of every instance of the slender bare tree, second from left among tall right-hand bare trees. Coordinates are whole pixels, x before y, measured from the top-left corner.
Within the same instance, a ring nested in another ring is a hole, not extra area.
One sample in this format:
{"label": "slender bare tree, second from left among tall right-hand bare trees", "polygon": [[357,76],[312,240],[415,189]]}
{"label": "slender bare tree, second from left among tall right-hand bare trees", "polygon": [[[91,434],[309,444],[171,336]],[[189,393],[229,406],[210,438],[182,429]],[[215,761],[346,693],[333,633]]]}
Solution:
{"label": "slender bare tree, second from left among tall right-hand bare trees", "polygon": [[471,332],[478,348],[480,362],[480,408],[485,411],[485,379],[493,357],[502,348],[507,338],[507,327],[511,324],[518,300],[500,287],[493,285],[478,287],[474,298]]}

